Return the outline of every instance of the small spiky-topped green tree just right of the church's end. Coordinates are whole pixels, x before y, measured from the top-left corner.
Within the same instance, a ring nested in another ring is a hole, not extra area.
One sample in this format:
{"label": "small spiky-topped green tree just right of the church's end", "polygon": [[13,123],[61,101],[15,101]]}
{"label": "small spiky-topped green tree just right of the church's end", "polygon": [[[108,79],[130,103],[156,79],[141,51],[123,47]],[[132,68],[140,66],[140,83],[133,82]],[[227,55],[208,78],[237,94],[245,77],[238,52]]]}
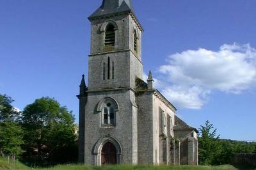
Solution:
{"label": "small spiky-topped green tree just right of the church's end", "polygon": [[216,143],[220,135],[216,136],[216,131],[217,129],[214,129],[208,120],[205,122],[205,126],[199,128],[198,157],[200,164],[212,164],[214,156],[220,151]]}

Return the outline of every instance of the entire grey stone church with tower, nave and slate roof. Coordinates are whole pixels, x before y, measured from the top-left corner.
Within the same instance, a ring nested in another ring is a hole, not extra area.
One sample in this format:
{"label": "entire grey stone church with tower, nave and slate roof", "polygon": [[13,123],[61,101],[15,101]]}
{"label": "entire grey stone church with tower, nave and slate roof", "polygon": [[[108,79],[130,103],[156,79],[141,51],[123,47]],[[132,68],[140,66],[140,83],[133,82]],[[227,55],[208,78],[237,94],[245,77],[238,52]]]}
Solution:
{"label": "entire grey stone church with tower, nave and slate roof", "polygon": [[103,0],[92,23],[88,86],[79,98],[79,160],[84,164],[198,164],[198,131],[143,81],[143,27],[131,0]]}

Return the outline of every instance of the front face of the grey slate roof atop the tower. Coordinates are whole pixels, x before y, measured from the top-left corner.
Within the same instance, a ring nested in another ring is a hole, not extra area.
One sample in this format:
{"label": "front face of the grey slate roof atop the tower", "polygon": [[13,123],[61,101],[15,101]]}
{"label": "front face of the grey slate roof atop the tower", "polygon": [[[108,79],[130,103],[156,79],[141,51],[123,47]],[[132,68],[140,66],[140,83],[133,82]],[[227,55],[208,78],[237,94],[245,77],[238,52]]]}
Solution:
{"label": "front face of the grey slate roof atop the tower", "polygon": [[131,0],[103,0],[102,5],[88,19],[119,12],[132,12]]}

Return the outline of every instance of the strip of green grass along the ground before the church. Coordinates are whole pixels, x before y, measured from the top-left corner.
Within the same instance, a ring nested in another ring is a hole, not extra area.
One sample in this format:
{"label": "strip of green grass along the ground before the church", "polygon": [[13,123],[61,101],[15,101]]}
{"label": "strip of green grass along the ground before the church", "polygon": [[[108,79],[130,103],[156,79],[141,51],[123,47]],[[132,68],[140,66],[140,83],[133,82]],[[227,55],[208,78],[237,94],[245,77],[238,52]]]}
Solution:
{"label": "strip of green grass along the ground before the church", "polygon": [[148,165],[141,165],[141,166],[131,166],[131,165],[118,165],[118,166],[83,166],[83,165],[77,165],[77,164],[69,164],[69,165],[60,165],[60,166],[54,166],[49,168],[31,168],[24,166],[24,164],[21,164],[20,162],[17,162],[15,164],[8,164],[6,160],[0,159],[0,170],[127,170],[127,169],[136,169],[136,170],[163,170],[163,169],[188,169],[188,170],[204,170],[204,169],[236,169],[233,166],[148,166]]}

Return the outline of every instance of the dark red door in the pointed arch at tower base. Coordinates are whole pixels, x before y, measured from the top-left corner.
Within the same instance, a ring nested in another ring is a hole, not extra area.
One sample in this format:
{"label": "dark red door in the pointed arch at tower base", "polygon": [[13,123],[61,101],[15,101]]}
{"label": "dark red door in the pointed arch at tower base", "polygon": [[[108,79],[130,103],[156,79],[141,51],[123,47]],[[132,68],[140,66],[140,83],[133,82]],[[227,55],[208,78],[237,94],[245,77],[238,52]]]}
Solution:
{"label": "dark red door in the pointed arch at tower base", "polygon": [[101,164],[117,164],[116,154],[116,147],[113,143],[108,142],[104,144],[101,150]]}

